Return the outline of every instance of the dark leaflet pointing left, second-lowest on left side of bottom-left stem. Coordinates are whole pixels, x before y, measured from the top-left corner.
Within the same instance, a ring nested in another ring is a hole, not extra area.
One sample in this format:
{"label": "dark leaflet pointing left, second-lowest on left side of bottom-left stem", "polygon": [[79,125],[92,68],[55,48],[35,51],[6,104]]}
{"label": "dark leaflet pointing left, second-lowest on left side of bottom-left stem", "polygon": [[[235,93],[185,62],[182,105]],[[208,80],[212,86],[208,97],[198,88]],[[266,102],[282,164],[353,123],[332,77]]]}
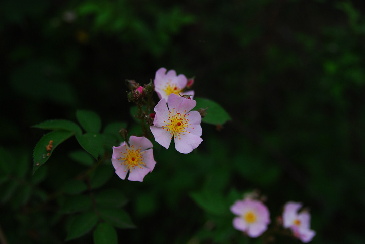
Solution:
{"label": "dark leaflet pointing left, second-lowest on left side of bottom-left stem", "polygon": [[90,196],[86,195],[68,196],[60,212],[66,214],[75,212],[84,212],[90,209],[91,206],[92,206],[92,201]]}

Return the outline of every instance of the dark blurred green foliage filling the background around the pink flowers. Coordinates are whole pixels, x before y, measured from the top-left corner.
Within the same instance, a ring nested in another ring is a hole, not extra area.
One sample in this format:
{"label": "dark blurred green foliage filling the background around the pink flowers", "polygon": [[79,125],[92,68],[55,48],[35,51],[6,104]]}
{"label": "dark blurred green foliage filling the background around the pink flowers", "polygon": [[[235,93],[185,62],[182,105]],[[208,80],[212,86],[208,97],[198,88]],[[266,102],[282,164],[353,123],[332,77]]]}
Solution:
{"label": "dark blurred green foliage filling the background around the pink flowers", "polygon": [[[364,14],[363,1],[340,0],[2,1],[0,234],[261,243],[228,210],[259,189],[272,222],[286,201],[311,209],[311,243],[364,243]],[[187,155],[154,143],[154,171],[122,181],[111,147],[121,126],[140,133],[124,80],[148,83],[160,67],[195,76],[196,96],[231,120],[203,124]],[[50,119],[68,124],[40,124]],[[55,132],[67,141],[33,175],[32,149]]]}

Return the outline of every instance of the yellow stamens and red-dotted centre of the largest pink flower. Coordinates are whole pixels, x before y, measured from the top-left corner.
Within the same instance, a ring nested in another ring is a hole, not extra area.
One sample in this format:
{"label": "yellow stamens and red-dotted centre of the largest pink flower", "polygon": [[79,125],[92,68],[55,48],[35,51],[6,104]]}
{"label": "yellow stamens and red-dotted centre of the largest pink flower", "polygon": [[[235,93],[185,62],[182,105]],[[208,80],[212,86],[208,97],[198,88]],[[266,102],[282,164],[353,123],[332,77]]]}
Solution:
{"label": "yellow stamens and red-dotted centre of the largest pink flower", "polygon": [[173,108],[172,112],[169,111],[169,120],[165,121],[166,125],[162,126],[162,129],[166,129],[166,131],[170,132],[171,139],[175,136],[179,140],[181,140],[180,136],[185,135],[185,133],[190,133],[187,131],[187,128],[192,128],[191,124],[189,123],[189,119],[187,118],[189,114],[186,113],[186,110],[184,113],[178,113],[175,112],[175,108]]}

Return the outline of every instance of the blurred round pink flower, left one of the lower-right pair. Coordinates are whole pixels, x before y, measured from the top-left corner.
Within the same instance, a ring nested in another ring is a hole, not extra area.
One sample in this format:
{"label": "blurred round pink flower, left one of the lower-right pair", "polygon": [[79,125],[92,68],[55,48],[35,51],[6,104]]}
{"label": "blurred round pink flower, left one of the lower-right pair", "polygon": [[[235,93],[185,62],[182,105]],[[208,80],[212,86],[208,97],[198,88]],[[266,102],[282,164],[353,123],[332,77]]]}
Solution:
{"label": "blurred round pink flower, left one of the lower-right pair", "polygon": [[233,219],[233,227],[250,237],[258,237],[270,223],[268,208],[259,200],[246,197],[231,206],[231,212],[238,215]]}

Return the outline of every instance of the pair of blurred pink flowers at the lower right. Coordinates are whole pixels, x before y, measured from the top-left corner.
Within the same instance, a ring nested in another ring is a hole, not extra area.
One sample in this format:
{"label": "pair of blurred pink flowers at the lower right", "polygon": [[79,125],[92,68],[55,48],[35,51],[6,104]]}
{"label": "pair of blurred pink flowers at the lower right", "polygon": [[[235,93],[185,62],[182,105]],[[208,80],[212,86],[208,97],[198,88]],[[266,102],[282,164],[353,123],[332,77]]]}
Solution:
{"label": "pair of blurred pink flowers at the lower right", "polygon": [[[282,216],[278,221],[285,229],[302,242],[307,243],[315,236],[315,231],[310,229],[310,214],[302,208],[300,202],[289,201],[284,205]],[[243,200],[237,200],[231,206],[231,212],[238,217],[233,219],[233,227],[243,231],[250,237],[258,237],[263,234],[270,224],[270,213],[261,200],[251,196]]]}

